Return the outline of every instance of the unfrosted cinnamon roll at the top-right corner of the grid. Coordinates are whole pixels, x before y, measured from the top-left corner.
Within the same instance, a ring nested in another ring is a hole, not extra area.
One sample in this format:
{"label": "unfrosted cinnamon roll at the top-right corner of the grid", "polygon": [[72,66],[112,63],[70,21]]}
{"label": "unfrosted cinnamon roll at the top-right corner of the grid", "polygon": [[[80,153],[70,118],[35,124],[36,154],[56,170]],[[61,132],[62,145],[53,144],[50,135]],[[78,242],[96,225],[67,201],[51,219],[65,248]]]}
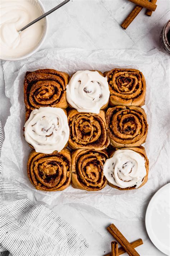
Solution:
{"label": "unfrosted cinnamon roll at the top-right corner of the grid", "polygon": [[107,76],[110,98],[109,105],[139,106],[145,104],[146,82],[137,69],[114,68],[104,72]]}

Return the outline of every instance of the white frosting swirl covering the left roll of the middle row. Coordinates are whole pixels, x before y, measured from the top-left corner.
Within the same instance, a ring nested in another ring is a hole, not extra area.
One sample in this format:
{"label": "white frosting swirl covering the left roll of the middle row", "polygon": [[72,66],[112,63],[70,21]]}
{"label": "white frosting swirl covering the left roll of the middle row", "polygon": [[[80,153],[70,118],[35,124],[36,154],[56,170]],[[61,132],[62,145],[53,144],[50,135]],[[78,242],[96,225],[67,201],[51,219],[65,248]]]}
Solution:
{"label": "white frosting swirl covering the left roll of the middle row", "polygon": [[67,115],[61,108],[34,109],[24,125],[25,140],[36,152],[61,151],[69,139]]}

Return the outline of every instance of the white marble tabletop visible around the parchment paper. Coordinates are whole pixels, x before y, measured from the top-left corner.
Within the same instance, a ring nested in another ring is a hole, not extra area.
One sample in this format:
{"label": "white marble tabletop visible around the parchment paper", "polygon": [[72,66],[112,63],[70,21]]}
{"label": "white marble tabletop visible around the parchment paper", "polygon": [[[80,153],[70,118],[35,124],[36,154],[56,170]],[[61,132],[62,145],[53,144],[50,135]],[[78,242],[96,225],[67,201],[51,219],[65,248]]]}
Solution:
{"label": "white marble tabletop visible around the parchment paper", "polygon": [[[46,10],[61,1],[42,0]],[[160,48],[161,28],[170,18],[169,0],[158,0],[157,9],[148,17],[143,9],[132,24],[123,30],[121,22],[126,18],[133,4],[127,0],[73,0],[65,7],[49,16],[49,31],[41,49],[46,48],[84,48],[84,49],[139,49],[150,51]],[[25,60],[27,62],[27,60]],[[14,63],[15,65],[15,63]],[[0,65],[0,114],[3,126],[10,114],[10,102],[4,93],[2,62]],[[154,194],[154,192],[153,192]],[[150,195],[150,198],[152,195]],[[145,211],[140,221],[117,221],[99,211],[83,205],[66,204],[52,210],[75,226],[89,241],[86,256],[104,255],[110,251],[112,236],[105,229],[114,223],[130,242],[142,238],[144,244],[137,248],[140,255],[164,255],[152,244],[145,228]],[[124,254],[125,255],[125,254]]]}

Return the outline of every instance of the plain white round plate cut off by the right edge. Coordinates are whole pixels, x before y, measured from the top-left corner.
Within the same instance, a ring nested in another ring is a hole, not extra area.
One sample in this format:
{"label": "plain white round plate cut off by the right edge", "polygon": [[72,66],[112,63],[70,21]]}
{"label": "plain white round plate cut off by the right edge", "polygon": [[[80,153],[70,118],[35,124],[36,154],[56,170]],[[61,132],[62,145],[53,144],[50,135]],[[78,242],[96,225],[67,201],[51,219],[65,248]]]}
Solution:
{"label": "plain white round plate cut off by the right edge", "polygon": [[170,255],[170,183],[152,197],[146,210],[145,224],[152,243]]}

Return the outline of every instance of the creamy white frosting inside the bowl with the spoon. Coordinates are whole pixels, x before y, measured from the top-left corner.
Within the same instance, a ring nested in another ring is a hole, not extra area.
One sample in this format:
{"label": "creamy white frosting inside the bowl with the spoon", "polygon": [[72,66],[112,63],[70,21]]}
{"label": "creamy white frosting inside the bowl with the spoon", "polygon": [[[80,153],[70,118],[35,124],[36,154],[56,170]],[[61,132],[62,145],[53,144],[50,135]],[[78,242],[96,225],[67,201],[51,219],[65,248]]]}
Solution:
{"label": "creamy white frosting inside the bowl with the spoon", "polygon": [[44,33],[44,20],[36,22],[21,33],[25,25],[42,15],[37,1],[1,0],[0,56],[18,58],[30,53]]}

